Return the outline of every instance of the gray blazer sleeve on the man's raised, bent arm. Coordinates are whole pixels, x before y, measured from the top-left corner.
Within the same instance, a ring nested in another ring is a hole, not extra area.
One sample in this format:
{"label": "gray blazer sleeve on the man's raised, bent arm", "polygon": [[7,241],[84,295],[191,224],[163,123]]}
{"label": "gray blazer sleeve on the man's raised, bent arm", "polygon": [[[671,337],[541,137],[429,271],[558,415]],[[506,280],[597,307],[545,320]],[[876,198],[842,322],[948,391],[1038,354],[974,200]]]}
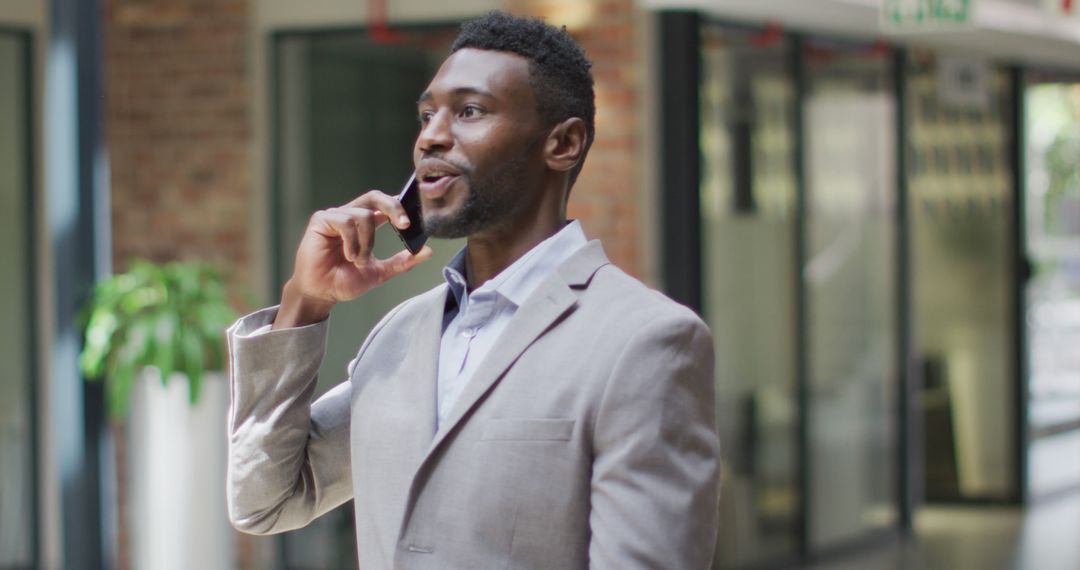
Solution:
{"label": "gray blazer sleeve on the man's raised, bent arm", "polygon": [[302,527],[352,498],[350,382],[312,403],[328,324],[261,331],[275,314],[228,331],[229,519],[256,534]]}

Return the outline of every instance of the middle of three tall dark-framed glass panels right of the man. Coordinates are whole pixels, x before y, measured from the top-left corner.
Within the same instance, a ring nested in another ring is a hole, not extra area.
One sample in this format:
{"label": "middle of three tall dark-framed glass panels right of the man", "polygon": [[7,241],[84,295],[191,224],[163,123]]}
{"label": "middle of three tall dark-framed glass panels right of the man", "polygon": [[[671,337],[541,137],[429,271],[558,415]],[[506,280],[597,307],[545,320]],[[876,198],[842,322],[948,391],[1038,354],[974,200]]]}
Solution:
{"label": "middle of three tall dark-framed glass panels right of the man", "polygon": [[895,100],[888,49],[810,42],[806,267],[812,547],[896,520]]}

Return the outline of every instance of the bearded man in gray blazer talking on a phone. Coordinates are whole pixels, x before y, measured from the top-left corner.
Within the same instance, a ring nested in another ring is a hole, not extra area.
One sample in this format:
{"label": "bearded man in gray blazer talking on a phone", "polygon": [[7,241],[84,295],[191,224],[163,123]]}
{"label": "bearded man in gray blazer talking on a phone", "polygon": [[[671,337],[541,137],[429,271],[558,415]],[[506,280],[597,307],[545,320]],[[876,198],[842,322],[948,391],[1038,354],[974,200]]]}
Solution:
{"label": "bearded man in gray blazer talking on a phone", "polygon": [[330,308],[431,255],[373,258],[376,227],[408,223],[381,192],[312,216],[280,307],[230,329],[233,524],[289,530],[353,499],[365,570],[706,568],[712,341],[567,223],[593,139],[583,52],[489,14],[418,111],[424,229],[468,245],[312,404]]}

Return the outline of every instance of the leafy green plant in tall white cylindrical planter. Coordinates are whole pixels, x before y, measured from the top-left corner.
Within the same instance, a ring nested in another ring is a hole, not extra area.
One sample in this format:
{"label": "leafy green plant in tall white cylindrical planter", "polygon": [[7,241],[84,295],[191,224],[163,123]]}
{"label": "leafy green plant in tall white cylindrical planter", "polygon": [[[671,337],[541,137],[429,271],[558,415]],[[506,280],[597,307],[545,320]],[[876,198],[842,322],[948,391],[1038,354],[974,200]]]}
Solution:
{"label": "leafy green plant in tall white cylindrical planter", "polygon": [[235,314],[221,274],[134,261],[95,286],[83,317],[80,366],[89,380],[104,379],[123,474],[119,548],[132,568],[229,568],[221,370]]}

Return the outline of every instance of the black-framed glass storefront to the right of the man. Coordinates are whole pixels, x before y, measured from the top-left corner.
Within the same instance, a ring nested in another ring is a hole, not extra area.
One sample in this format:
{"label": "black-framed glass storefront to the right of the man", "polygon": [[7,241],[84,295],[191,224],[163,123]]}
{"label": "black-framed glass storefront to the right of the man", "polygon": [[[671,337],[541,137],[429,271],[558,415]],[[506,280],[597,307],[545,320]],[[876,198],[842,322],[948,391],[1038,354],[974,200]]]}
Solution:
{"label": "black-framed glass storefront to the right of the man", "polygon": [[[1075,135],[1025,145],[1047,124],[1032,96],[1075,128],[1068,76],[1032,86],[1061,55],[1020,28],[889,36],[874,2],[650,4],[665,284],[718,355],[717,565],[1080,487],[1077,188],[1035,167]],[[981,22],[1016,8],[980,4]]]}

